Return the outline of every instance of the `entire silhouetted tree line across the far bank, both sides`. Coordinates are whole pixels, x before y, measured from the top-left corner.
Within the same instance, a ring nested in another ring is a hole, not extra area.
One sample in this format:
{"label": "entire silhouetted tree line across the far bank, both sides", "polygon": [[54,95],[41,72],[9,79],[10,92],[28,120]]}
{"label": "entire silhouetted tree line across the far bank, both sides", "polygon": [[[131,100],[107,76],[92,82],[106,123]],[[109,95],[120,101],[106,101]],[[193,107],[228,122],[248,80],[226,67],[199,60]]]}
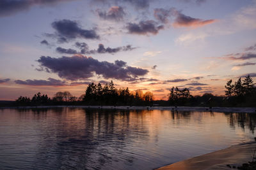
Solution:
{"label": "entire silhouetted tree line across the far bank, both sides", "polygon": [[22,106],[38,105],[107,105],[107,106],[240,106],[255,107],[256,87],[250,75],[227,81],[225,96],[205,93],[202,96],[191,95],[189,88],[172,87],[168,101],[155,101],[152,92],[129,90],[128,87],[116,89],[113,81],[102,86],[90,83],[84,94],[75,97],[70,92],[57,92],[52,98],[38,92],[32,99],[20,96],[15,103]]}

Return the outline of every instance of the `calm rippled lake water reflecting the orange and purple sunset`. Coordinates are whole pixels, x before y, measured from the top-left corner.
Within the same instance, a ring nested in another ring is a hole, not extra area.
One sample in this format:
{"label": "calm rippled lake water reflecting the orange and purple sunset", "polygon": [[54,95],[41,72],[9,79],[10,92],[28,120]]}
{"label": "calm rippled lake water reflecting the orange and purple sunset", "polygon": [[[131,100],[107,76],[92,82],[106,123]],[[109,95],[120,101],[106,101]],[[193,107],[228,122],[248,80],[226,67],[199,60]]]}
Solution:
{"label": "calm rippled lake water reflecting the orange and purple sunset", "polygon": [[0,169],[154,169],[254,138],[256,115],[0,110]]}

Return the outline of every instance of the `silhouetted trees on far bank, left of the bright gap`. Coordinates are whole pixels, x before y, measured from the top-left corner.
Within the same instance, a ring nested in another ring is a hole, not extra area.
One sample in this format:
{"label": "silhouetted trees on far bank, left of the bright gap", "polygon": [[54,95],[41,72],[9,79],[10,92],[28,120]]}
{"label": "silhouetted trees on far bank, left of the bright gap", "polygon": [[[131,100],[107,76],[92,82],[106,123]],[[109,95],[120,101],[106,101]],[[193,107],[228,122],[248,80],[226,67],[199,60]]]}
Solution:
{"label": "silhouetted trees on far bank, left of the bright gap", "polygon": [[154,96],[152,92],[143,93],[142,90],[130,91],[127,88],[116,89],[113,81],[102,86],[100,83],[90,83],[83,95],[72,96],[70,92],[57,92],[52,99],[47,94],[38,92],[32,99],[20,96],[15,100],[17,105],[111,105],[111,106],[152,106]]}

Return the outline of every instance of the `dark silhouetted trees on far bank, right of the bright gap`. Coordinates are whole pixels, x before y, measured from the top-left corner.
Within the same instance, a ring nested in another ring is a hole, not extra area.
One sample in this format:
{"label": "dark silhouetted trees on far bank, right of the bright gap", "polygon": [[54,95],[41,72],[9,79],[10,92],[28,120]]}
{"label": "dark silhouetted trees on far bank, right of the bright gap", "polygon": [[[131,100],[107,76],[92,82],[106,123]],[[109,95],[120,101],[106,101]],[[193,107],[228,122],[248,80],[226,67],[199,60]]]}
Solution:
{"label": "dark silhouetted trees on far bank, right of the bright gap", "polygon": [[233,107],[255,107],[256,106],[256,87],[250,75],[244,80],[239,78],[227,81],[225,85],[225,96],[214,96],[205,93],[202,96],[192,96],[188,88],[170,89],[168,104],[172,106],[233,106]]}

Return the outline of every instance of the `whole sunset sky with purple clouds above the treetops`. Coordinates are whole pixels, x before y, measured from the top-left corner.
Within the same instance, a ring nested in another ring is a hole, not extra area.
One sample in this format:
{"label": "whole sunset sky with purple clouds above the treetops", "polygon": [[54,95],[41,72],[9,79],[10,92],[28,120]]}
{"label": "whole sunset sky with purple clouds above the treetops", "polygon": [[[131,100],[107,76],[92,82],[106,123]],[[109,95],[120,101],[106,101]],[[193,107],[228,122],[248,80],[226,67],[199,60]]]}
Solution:
{"label": "whole sunset sky with purple clouds above the treetops", "polygon": [[167,99],[256,80],[255,0],[1,0],[0,100],[88,83]]}

